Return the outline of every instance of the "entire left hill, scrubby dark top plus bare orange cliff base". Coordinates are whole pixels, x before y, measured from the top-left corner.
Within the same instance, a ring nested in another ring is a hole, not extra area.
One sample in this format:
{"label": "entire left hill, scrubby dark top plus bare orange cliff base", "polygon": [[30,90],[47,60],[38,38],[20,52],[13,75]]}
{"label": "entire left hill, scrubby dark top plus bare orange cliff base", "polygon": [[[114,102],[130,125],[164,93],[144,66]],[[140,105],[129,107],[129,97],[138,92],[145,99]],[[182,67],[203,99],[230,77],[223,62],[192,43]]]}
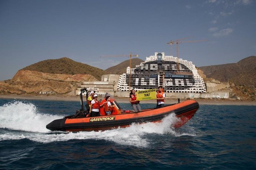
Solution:
{"label": "entire left hill, scrubby dark top plus bare orange cliff base", "polygon": [[103,74],[108,73],[66,57],[47,59],[19,70],[11,80],[0,82],[0,93],[65,94],[76,89],[78,82],[98,81]]}

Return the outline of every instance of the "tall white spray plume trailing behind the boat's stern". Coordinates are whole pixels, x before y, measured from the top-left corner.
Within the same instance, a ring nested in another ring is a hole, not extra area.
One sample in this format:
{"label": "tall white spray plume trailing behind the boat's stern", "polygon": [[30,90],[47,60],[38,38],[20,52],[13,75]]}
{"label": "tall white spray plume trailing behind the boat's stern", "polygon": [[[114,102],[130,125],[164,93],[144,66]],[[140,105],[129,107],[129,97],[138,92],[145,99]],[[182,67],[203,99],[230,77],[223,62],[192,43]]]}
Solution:
{"label": "tall white spray plume trailing behind the boat's stern", "polygon": [[14,101],[0,106],[0,128],[29,132],[48,132],[46,125],[62,116],[37,113],[32,103]]}

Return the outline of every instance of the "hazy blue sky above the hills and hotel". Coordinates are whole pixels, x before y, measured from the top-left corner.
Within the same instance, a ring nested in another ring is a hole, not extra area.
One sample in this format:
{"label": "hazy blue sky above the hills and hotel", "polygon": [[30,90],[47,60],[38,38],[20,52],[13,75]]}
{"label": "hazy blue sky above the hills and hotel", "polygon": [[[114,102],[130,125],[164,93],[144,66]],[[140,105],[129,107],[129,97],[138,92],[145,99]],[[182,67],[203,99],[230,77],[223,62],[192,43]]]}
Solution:
{"label": "hazy blue sky above the hills and hotel", "polygon": [[[0,80],[45,59],[68,57],[106,69],[165,52],[197,67],[256,55],[254,0],[0,0]],[[193,37],[194,36],[194,37]],[[176,56],[176,45],[173,55]]]}

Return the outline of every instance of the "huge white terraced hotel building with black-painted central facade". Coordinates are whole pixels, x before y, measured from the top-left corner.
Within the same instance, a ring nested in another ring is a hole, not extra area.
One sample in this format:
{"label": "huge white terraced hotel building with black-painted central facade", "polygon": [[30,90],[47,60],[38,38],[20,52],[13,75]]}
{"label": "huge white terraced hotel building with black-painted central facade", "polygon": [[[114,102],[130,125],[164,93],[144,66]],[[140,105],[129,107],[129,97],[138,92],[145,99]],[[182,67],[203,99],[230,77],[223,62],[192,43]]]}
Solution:
{"label": "huge white terraced hotel building with black-painted central facade", "polygon": [[165,56],[164,52],[146,57],[136,68],[127,67],[127,73],[119,77],[118,91],[129,91],[130,72],[130,89],[151,89],[161,85],[167,93],[206,92],[203,78],[191,61],[178,58],[177,62],[177,57]]}

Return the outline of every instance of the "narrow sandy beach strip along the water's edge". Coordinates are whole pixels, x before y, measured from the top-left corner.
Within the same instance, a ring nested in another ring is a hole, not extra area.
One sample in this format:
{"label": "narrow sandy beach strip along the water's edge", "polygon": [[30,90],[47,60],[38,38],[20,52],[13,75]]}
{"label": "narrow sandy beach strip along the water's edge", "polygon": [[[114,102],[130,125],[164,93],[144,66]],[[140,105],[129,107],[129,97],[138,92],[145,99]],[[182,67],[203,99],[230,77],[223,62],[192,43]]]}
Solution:
{"label": "narrow sandy beach strip along the water's edge", "polygon": [[[101,97],[99,97],[101,99]],[[118,103],[129,103],[128,97],[114,97]],[[77,101],[80,102],[80,96],[75,95],[0,95],[0,99],[26,99],[26,100],[50,100],[50,101]],[[187,99],[180,99],[186,101]],[[239,101],[232,99],[191,99],[199,105],[256,105],[256,101]],[[83,98],[85,102],[85,98]],[[177,103],[178,99],[165,99],[166,104]],[[156,103],[156,100],[141,101],[140,103]]]}

